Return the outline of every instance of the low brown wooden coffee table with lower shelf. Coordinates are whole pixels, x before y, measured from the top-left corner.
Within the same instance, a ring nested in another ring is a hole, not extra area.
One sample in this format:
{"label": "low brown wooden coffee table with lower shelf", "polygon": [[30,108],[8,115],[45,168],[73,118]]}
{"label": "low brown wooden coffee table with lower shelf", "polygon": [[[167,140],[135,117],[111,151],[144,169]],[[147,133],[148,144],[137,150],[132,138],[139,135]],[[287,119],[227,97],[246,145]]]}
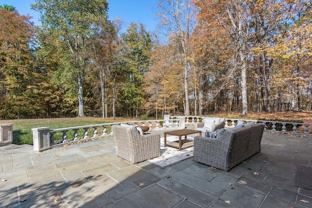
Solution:
{"label": "low brown wooden coffee table with lower shelf", "polygon": [[[181,129],[181,130],[176,130],[176,131],[164,132],[164,146],[165,147],[166,146],[174,147],[174,148],[177,148],[179,150],[192,147],[192,146],[194,146],[194,141],[187,139],[186,137],[187,137],[187,135],[193,134],[193,133],[199,133],[199,135],[201,136],[201,131],[192,130],[192,129]],[[179,140],[174,141],[174,142],[169,142],[167,144],[167,134],[178,136]],[[182,136],[184,136],[183,140],[181,138]]]}

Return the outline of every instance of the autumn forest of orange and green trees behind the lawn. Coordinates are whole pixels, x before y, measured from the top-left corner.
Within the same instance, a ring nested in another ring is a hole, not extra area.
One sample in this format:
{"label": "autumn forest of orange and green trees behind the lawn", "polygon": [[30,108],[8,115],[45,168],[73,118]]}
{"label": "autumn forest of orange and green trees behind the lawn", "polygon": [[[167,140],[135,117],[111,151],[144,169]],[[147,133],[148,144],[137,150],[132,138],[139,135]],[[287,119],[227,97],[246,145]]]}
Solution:
{"label": "autumn forest of orange and green trees behind the lawn", "polygon": [[159,31],[121,33],[106,0],[36,0],[40,27],[3,5],[0,117],[310,111],[311,7],[159,0]]}

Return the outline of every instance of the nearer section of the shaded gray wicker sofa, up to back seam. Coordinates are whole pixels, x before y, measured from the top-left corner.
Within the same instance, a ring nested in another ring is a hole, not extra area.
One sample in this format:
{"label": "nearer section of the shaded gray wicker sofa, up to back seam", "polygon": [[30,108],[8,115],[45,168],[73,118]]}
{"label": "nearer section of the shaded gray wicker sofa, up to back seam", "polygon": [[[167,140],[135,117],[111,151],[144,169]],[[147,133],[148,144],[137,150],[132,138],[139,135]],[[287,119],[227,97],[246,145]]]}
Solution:
{"label": "nearer section of the shaded gray wicker sofa, up to back seam", "polygon": [[246,159],[250,127],[227,130],[218,139],[194,138],[194,160],[217,169],[229,171]]}

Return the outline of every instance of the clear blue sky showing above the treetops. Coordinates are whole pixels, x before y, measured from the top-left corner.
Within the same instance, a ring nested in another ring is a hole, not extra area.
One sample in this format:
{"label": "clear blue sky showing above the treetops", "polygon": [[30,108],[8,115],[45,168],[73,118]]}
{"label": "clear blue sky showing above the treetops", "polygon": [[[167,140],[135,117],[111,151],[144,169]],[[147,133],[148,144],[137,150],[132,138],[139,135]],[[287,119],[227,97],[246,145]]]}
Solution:
{"label": "clear blue sky showing above the treetops", "polygon": [[[110,20],[116,18],[123,19],[124,25],[121,32],[126,32],[131,22],[143,23],[148,32],[154,32],[158,23],[154,17],[153,8],[156,7],[158,0],[107,0],[108,16]],[[0,5],[7,4],[14,6],[20,15],[32,16],[35,25],[40,25],[39,12],[30,9],[30,4],[36,0],[0,0]]]}

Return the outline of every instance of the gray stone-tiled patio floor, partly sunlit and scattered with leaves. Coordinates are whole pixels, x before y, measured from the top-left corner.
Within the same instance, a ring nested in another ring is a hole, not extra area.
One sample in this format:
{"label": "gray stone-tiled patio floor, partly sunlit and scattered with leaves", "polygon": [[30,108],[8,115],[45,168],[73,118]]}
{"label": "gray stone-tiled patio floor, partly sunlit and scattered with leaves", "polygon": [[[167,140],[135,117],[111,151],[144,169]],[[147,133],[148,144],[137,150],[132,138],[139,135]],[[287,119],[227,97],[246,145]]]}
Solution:
{"label": "gray stone-tiled patio floor, partly sunlit and scattered with leaves", "polygon": [[0,207],[312,207],[312,190],[293,185],[297,165],[312,167],[312,138],[264,132],[261,143],[261,153],[229,172],[193,158],[164,169],[130,164],[115,156],[113,137],[42,152],[6,145],[0,147]]}

